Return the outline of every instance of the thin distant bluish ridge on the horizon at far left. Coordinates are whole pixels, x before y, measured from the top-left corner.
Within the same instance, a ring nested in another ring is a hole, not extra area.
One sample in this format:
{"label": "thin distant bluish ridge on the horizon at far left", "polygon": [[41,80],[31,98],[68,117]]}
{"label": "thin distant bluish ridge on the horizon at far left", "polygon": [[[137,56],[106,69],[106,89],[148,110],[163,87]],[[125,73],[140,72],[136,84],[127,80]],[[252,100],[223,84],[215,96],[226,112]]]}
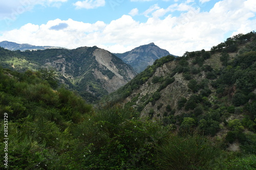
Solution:
{"label": "thin distant bluish ridge on the horizon at far left", "polygon": [[45,50],[45,49],[51,49],[51,48],[62,48],[62,47],[56,47],[56,46],[35,46],[30,44],[18,44],[16,42],[10,42],[10,41],[2,41],[0,42],[0,46],[3,48],[6,48],[8,50],[16,51],[26,51],[26,50]]}

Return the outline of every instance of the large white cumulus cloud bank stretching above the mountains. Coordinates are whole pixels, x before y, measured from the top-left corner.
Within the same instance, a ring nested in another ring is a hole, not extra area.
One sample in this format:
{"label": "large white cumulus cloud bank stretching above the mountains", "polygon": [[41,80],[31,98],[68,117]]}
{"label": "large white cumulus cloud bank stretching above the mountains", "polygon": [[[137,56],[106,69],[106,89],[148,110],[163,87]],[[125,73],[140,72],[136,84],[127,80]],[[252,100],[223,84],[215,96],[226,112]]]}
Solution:
{"label": "large white cumulus cloud bank stretching above the mountains", "polygon": [[[4,32],[0,41],[67,48],[97,45],[113,53],[123,53],[154,42],[171,54],[181,56],[185,51],[209,50],[225,40],[226,35],[245,34],[255,29],[254,4],[254,0],[223,0],[209,12],[179,4],[167,8],[155,5],[152,11],[144,13],[148,16],[145,22],[136,21],[131,14],[110,23],[55,19],[43,25],[28,23]],[[172,16],[172,11],[178,10],[182,13]]]}

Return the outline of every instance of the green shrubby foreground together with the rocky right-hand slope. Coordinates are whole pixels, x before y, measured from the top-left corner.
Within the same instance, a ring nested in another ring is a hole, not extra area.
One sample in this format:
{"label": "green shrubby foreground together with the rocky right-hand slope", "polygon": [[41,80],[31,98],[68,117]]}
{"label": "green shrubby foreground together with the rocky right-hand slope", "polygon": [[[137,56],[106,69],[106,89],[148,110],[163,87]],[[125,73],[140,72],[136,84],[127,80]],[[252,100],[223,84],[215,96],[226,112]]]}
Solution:
{"label": "green shrubby foreground together with the rocky right-hand slope", "polygon": [[1,68],[0,156],[9,169],[253,170],[255,37],[156,60],[94,107],[49,70]]}

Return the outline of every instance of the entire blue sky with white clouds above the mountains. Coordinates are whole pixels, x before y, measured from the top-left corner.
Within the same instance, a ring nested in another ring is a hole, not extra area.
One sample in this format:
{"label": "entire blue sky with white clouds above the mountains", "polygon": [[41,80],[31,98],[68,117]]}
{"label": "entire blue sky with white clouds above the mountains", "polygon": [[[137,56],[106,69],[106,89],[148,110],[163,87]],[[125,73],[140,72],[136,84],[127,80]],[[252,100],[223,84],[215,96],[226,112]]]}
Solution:
{"label": "entire blue sky with white clouds above the mountains", "polygon": [[182,56],[255,31],[255,15],[255,0],[8,0],[0,41],[112,53],[154,42]]}

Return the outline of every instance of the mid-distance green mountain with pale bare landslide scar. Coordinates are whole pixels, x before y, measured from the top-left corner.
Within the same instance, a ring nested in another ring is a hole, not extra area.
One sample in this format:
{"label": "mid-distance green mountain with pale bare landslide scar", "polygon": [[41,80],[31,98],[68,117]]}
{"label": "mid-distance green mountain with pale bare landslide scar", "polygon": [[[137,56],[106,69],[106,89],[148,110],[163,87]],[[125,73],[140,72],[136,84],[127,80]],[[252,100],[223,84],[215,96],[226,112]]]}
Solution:
{"label": "mid-distance green mountain with pale bare landslide scar", "polygon": [[25,52],[0,48],[0,56],[4,68],[55,70],[61,83],[77,90],[89,102],[117,90],[136,75],[130,65],[97,46]]}

